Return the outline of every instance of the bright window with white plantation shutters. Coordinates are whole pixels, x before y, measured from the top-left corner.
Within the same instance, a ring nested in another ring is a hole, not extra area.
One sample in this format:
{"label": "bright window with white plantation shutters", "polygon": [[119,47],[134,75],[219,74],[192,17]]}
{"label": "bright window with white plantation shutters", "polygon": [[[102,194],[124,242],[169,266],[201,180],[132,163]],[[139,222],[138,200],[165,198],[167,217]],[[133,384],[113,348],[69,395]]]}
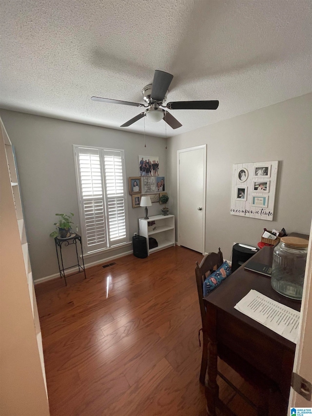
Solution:
{"label": "bright window with white plantation shutters", "polygon": [[128,242],[124,151],[74,145],[84,253]]}

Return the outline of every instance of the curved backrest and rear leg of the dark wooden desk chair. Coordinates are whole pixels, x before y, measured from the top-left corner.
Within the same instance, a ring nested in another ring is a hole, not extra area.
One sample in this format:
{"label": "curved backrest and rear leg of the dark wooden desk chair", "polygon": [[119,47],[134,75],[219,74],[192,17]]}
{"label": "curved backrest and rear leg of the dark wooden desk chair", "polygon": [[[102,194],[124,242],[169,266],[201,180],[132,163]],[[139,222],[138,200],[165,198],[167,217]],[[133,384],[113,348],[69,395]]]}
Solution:
{"label": "curved backrest and rear leg of the dark wooden desk chair", "polygon": [[218,269],[221,266],[222,263],[223,263],[223,255],[219,247],[218,253],[206,254],[206,256],[201,260],[200,264],[198,264],[198,261],[196,261],[196,267],[195,267],[197,293],[198,293],[201,324],[202,324],[202,328],[198,332],[198,337],[200,335],[201,330],[203,333],[203,350],[202,350],[202,356],[201,356],[199,381],[203,385],[205,384],[205,376],[206,376],[207,364],[208,364],[208,327],[207,327],[208,323],[207,323],[207,318],[206,318],[206,308],[205,308],[204,299],[203,299],[204,297],[203,283],[205,279],[214,270]]}

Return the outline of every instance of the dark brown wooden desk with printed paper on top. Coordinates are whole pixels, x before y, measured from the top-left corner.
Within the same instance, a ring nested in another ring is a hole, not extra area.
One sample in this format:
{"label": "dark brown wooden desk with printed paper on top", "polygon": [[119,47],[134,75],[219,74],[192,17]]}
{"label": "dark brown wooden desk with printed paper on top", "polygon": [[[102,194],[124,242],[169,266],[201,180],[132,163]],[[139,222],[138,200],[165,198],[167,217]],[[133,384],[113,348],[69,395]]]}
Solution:
{"label": "dark brown wooden desk with printed paper on top", "polygon": [[[263,247],[252,260],[272,264],[273,247]],[[276,383],[285,402],[288,400],[295,344],[234,309],[251,289],[300,311],[300,301],[279,295],[271,287],[270,277],[248,272],[244,265],[204,298],[209,324],[208,381],[205,387],[209,416],[215,416],[217,355],[222,357],[222,350],[233,352],[234,357],[242,358]],[[238,362],[239,365],[242,364]]]}

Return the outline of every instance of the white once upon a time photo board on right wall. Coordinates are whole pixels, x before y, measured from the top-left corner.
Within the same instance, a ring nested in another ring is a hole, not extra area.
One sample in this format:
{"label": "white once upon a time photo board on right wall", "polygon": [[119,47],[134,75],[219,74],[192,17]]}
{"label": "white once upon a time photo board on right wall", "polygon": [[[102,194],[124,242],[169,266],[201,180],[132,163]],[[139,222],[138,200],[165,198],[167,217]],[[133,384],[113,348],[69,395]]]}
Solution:
{"label": "white once upon a time photo board on right wall", "polygon": [[233,165],[231,214],[273,220],[278,160]]}

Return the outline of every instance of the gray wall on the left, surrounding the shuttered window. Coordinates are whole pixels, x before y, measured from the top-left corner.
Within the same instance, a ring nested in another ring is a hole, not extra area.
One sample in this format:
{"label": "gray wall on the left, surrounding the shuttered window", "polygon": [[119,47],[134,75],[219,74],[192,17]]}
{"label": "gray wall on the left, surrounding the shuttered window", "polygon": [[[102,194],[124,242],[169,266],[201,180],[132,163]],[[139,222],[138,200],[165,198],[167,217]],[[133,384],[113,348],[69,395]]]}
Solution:
{"label": "gray wall on the left, surrounding the shuttered window", "polygon": [[[96,127],[59,119],[1,110],[0,116],[16,151],[21,197],[32,263],[33,277],[39,279],[58,273],[54,239],[57,212],[75,214],[79,223],[78,197],[73,144],[124,149],[127,180],[138,176],[138,156],[159,156],[160,174],[166,176],[166,140]],[[128,183],[126,183],[128,192]],[[144,208],[132,208],[128,194],[129,235],[138,231],[137,218]],[[159,203],[149,207],[149,215],[161,214]],[[65,266],[73,263],[74,247],[66,248]],[[87,263],[131,251],[128,246],[87,259]]]}

